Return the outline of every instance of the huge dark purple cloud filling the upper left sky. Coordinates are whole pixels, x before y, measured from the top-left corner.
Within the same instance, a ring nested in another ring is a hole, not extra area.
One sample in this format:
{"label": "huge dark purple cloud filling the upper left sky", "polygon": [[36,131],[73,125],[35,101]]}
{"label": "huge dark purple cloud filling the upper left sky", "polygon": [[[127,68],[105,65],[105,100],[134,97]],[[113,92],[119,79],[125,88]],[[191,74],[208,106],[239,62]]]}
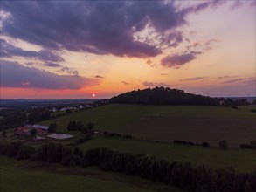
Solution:
{"label": "huge dark purple cloud filling the upper left sky", "polygon": [[168,1],[3,1],[10,13],[3,19],[3,34],[52,50],[88,51],[147,58],[161,50],[135,40],[134,34],[147,27],[163,34],[162,43],[182,42],[176,27],[186,24],[188,11]]}

